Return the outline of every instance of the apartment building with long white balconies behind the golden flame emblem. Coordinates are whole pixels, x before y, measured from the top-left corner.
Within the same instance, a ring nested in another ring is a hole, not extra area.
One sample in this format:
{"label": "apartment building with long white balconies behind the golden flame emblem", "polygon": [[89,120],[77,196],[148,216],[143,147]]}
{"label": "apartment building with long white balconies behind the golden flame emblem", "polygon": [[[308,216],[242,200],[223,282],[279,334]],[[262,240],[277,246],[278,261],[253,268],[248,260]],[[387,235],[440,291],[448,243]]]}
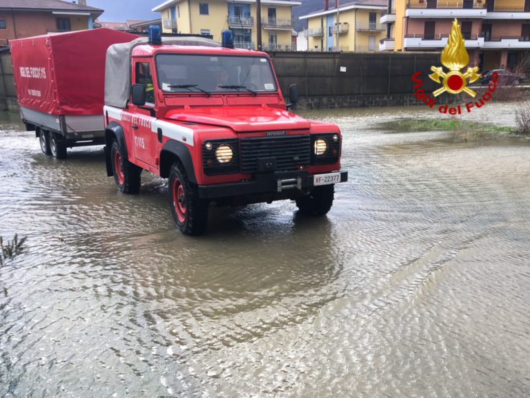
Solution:
{"label": "apartment building with long white balconies behind the golden flame emblem", "polygon": [[530,0],[388,0],[380,50],[441,51],[457,18],[480,70],[514,69],[530,50]]}

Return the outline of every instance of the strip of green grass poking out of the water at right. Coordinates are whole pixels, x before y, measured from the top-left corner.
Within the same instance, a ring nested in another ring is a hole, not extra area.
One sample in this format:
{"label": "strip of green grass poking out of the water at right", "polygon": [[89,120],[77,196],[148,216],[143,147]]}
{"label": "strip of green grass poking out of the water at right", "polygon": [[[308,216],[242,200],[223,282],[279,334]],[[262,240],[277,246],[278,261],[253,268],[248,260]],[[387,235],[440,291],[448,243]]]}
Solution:
{"label": "strip of green grass poking out of the water at right", "polygon": [[517,134],[518,129],[510,126],[497,126],[490,123],[468,122],[458,119],[397,119],[392,122],[383,122],[378,126],[390,133],[403,133],[407,131],[473,131],[477,133]]}

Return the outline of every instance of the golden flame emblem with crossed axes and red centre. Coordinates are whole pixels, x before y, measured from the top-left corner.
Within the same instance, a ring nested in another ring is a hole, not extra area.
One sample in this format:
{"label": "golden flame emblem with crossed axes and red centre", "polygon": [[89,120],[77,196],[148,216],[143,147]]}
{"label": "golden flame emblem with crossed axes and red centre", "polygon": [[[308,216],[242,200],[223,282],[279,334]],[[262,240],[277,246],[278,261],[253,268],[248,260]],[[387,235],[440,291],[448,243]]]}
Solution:
{"label": "golden flame emblem with crossed axes and red centre", "polygon": [[469,55],[467,55],[464,38],[462,37],[460,25],[458,25],[456,18],[453,21],[453,27],[451,28],[449,39],[447,39],[447,44],[444,50],[442,50],[440,61],[442,61],[443,66],[449,69],[449,72],[445,73],[441,66],[438,68],[431,66],[433,73],[429,77],[437,83],[440,83],[440,77],[443,79],[441,82],[443,87],[433,92],[435,97],[444,93],[444,91],[451,94],[458,94],[464,91],[464,93],[471,95],[471,97],[477,95],[475,91],[467,87],[467,79],[469,79],[469,83],[471,84],[480,77],[477,73],[478,67],[467,68],[466,73],[460,72],[468,64]]}

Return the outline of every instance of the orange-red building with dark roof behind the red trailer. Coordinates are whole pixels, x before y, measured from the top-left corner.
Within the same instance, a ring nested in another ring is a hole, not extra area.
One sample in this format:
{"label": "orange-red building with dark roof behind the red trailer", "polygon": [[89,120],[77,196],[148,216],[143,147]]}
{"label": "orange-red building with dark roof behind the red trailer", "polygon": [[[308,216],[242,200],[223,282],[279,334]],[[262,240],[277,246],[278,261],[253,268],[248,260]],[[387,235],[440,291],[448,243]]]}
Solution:
{"label": "orange-red building with dark roof behind the red trailer", "polygon": [[100,8],[87,6],[86,0],[2,0],[0,45],[50,32],[91,29],[102,13]]}

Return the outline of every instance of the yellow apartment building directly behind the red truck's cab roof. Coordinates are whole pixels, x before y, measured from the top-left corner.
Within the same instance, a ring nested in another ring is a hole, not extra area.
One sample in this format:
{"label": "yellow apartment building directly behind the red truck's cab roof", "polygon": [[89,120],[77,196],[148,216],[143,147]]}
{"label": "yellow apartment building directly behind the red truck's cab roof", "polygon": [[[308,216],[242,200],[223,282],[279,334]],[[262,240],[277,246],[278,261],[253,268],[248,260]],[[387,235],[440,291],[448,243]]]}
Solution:
{"label": "yellow apartment building directly behind the red truck's cab roof", "polygon": [[221,41],[222,31],[231,30],[235,47],[257,49],[261,26],[262,50],[291,50],[291,8],[299,5],[300,1],[261,0],[259,23],[255,0],[168,0],[153,11],[161,13],[163,32],[212,35]]}

